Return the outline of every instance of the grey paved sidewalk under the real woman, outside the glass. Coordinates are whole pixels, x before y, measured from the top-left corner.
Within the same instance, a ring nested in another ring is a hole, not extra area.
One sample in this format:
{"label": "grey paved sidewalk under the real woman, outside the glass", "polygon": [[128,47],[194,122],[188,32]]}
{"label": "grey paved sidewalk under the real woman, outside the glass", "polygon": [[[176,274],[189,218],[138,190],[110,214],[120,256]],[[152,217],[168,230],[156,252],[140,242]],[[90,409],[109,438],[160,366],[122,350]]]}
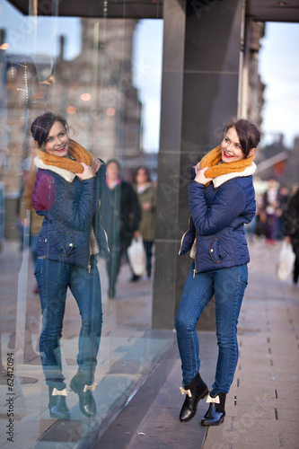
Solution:
{"label": "grey paved sidewalk under the real woman, outside the glass", "polygon": [[[200,426],[207,411],[203,401],[199,402],[195,418],[180,423],[180,359],[174,347],[161,362],[167,375],[148,408],[141,389],[134,403],[131,401],[95,447],[299,448],[299,288],[292,286],[291,280],[282,283],[275,278],[280,245],[267,246],[262,239],[250,245],[250,282],[238,327],[240,357],[227,395],[223,425]],[[217,351],[215,335],[199,331],[199,342],[201,374],[211,386]],[[159,375],[156,377],[158,383]],[[136,409],[140,413],[141,405],[144,416],[133,426]]]}

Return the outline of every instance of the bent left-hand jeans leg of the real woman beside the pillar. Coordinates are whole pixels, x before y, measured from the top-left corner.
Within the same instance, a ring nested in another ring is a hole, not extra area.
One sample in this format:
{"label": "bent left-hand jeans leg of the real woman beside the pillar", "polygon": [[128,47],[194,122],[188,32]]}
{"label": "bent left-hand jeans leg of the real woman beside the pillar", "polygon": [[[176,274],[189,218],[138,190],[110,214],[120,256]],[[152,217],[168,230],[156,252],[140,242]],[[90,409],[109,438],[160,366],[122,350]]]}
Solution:
{"label": "bent left-hand jeans leg of the real woman beside the pillar", "polygon": [[213,277],[198,273],[193,277],[191,264],[176,316],[176,330],[181,369],[185,385],[189,384],[200,368],[197,322],[200,313],[213,296]]}

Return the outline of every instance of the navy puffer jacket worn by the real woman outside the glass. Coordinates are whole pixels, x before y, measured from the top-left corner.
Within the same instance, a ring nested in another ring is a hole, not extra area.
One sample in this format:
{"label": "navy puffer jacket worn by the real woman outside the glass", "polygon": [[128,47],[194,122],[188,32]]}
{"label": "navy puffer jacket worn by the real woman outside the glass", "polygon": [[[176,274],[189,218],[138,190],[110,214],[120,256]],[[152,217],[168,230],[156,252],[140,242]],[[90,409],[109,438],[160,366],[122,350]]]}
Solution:
{"label": "navy puffer jacket worn by the real woman outside the glass", "polygon": [[[246,169],[207,187],[189,182],[189,227],[182,236],[179,255],[192,248],[195,239],[195,272],[230,268],[250,261],[243,225],[255,215],[255,192],[252,176]],[[194,178],[194,172],[193,172]],[[217,187],[215,187],[215,185]]]}

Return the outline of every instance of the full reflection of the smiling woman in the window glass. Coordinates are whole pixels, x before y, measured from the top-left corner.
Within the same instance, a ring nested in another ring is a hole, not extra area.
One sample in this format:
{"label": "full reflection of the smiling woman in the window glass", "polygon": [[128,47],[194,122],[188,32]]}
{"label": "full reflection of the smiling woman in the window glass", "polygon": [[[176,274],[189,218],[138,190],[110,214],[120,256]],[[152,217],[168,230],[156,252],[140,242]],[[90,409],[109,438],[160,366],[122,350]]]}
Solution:
{"label": "full reflection of the smiling woman in the window glass", "polygon": [[66,119],[45,113],[31,125],[38,168],[32,205],[44,216],[36,252],[42,312],[40,357],[48,384],[52,418],[69,418],[62,374],[60,338],[70,288],[82,318],[78,371],[71,389],[87,417],[96,413],[92,390],[101,339],[101,284],[95,254],[108,251],[99,199],[105,165],[68,136]]}

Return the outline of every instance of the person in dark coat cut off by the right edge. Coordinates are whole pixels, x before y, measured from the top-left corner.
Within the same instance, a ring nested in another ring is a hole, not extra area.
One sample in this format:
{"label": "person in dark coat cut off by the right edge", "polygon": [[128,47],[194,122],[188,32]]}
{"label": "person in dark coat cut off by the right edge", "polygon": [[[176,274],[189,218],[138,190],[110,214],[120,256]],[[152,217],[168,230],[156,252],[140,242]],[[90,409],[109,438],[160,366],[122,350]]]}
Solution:
{"label": "person in dark coat cut off by the right edge", "polygon": [[298,284],[299,277],[299,189],[289,199],[284,213],[285,240],[292,243],[295,252],[293,282]]}

